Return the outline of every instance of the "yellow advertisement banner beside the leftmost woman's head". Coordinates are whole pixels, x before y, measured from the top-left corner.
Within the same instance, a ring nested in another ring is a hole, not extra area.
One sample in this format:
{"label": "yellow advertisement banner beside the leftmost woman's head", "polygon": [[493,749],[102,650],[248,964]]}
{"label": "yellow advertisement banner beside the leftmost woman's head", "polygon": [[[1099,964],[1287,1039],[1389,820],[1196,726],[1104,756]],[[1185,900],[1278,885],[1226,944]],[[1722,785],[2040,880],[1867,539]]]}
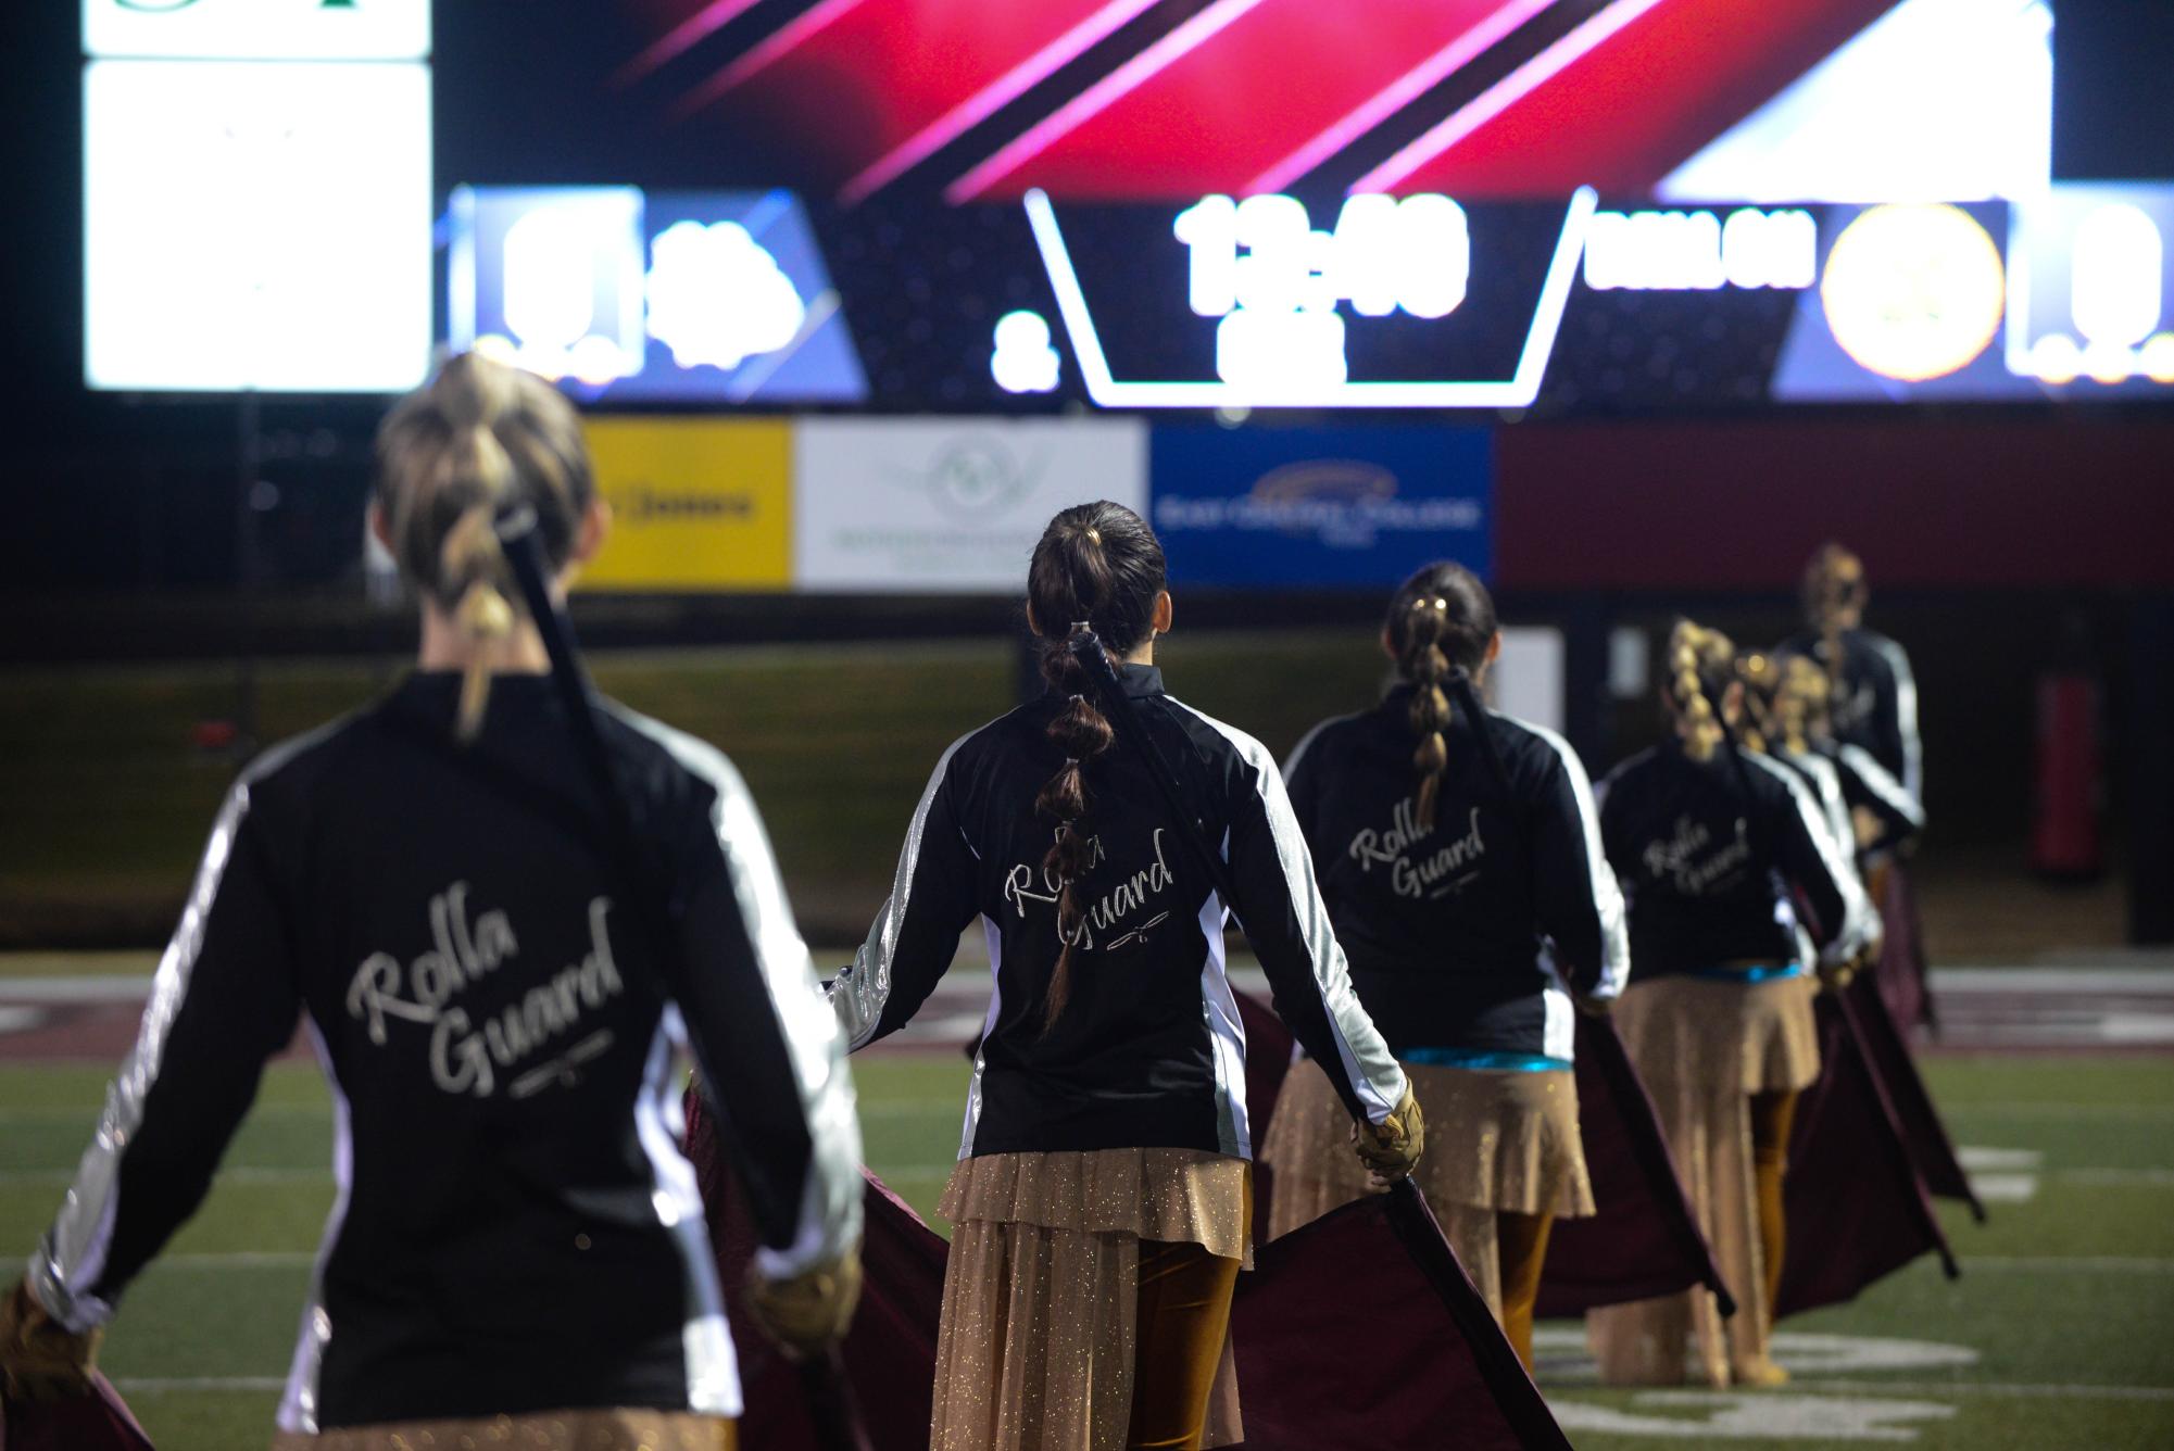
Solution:
{"label": "yellow advertisement banner beside the leftmost woman's head", "polygon": [[791,582],[791,426],[589,419],[611,537],[583,589],[733,591]]}

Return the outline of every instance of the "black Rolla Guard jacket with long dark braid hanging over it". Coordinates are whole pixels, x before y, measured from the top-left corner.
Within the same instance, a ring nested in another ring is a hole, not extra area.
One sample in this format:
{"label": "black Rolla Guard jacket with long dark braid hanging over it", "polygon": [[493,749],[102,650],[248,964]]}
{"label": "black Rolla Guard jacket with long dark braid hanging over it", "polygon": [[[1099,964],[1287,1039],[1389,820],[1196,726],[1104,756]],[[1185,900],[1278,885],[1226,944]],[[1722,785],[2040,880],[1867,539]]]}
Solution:
{"label": "black Rolla Guard jacket with long dark braid hanging over it", "polygon": [[1259,741],[1178,704],[1161,671],[1122,667],[1124,689],[1220,843],[1239,901],[1222,901],[1120,741],[1087,767],[1087,932],[1065,1012],[1044,1032],[1057,967],[1057,882],[1041,858],[1054,823],[1035,795],[1063,765],[1046,739],[1065,708],[1044,695],[952,743],[898,856],[891,899],[830,999],[852,1045],[896,1032],[980,921],[994,993],[974,1058],[959,1158],[1052,1149],[1180,1147],[1252,1156],[1246,1034],[1224,975],[1224,912],[1246,928],[1276,1012],[1352,1112],[1380,1121],[1404,1093],[1352,995],[1313,884],[1283,775]]}

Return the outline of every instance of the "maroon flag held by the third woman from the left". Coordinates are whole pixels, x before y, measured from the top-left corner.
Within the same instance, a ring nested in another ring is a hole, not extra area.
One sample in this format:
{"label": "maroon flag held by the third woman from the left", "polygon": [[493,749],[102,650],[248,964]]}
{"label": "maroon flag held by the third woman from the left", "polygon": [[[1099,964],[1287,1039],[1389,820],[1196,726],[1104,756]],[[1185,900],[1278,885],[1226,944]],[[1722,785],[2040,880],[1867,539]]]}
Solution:
{"label": "maroon flag held by the third woman from the left", "polygon": [[1652,1097],[1615,1025],[1578,1014],[1576,1047],[1578,1138],[1598,1212],[1554,1221],[1535,1312],[1541,1318],[1578,1316],[1598,1305],[1704,1286],[1722,1314],[1735,1314],[1676,1177]]}

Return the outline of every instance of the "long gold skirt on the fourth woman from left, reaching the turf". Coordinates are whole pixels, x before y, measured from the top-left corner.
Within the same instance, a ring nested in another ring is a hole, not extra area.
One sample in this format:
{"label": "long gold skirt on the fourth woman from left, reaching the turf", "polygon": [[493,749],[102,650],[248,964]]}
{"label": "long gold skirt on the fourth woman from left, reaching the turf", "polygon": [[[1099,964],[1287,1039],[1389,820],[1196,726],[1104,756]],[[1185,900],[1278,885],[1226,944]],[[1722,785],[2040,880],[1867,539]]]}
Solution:
{"label": "long gold skirt on the fourth woman from left, reaching the turf", "polygon": [[1728,1386],[1765,1364],[1774,1312],[1763,1290],[1750,1095],[1800,1090],[1820,1075],[1817,991],[1811,975],[1754,984],[1650,977],[1615,1004],[1615,1027],[1652,1095],[1737,1314],[1724,1321],[1707,1290],[1594,1310],[1585,1323],[1604,1381]]}

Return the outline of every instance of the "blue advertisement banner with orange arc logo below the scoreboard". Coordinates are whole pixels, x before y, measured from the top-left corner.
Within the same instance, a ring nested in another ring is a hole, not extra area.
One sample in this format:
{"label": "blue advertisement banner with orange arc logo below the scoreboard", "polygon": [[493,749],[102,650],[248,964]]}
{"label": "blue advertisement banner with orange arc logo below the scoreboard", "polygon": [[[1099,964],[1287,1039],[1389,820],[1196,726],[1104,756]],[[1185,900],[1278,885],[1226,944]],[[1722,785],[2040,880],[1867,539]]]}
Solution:
{"label": "blue advertisement banner with orange arc logo below the scoreboard", "polygon": [[1437,558],[1494,571],[1480,428],[1157,428],[1148,478],[1178,586],[1389,591]]}

